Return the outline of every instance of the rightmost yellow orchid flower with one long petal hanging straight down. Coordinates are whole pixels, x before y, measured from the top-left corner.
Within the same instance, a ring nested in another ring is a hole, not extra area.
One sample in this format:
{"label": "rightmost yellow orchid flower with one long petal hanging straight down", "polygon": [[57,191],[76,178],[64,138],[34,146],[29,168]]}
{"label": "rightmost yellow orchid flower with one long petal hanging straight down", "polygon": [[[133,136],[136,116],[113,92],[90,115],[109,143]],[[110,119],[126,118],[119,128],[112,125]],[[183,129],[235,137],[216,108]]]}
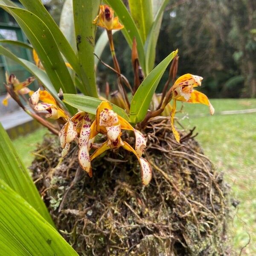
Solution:
{"label": "rightmost yellow orchid flower with one long petal hanging straight down", "polygon": [[175,139],[180,143],[180,134],[174,127],[174,116],[176,111],[176,101],[189,102],[189,103],[201,103],[209,106],[210,114],[214,114],[214,108],[209,102],[209,99],[204,93],[194,90],[194,87],[201,86],[201,81],[203,78],[201,76],[194,76],[191,74],[185,74],[180,76],[172,86],[172,112],[171,112],[171,126],[172,132]]}

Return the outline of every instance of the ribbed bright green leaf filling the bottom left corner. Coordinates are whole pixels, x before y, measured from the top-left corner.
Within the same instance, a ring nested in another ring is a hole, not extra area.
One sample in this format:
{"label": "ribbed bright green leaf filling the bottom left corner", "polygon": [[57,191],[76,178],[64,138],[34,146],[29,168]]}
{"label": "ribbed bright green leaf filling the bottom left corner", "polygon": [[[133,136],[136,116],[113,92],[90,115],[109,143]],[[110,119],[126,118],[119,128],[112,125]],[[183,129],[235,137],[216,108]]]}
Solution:
{"label": "ribbed bright green leaf filling the bottom left corner", "polygon": [[42,216],[0,180],[0,255],[77,256]]}

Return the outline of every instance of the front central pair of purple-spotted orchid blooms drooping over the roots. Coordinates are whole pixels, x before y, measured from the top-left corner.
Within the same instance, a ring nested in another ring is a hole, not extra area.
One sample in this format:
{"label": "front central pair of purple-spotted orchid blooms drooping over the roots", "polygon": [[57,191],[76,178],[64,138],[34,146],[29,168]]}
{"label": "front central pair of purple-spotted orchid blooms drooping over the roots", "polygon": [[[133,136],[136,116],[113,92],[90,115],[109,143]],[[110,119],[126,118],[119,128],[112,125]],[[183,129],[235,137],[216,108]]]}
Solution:
{"label": "front central pair of purple-spotted orchid blooms drooping over the roots", "polygon": [[[121,130],[131,130],[135,134],[135,149],[127,142],[122,141]],[[103,143],[91,156],[90,148],[97,134],[105,134],[107,141]],[[85,112],[76,113],[59,132],[62,157],[65,157],[70,149],[70,142],[79,137],[78,160],[82,169],[92,177],[91,160],[108,149],[122,147],[136,155],[141,166],[141,176],[144,185],[147,185],[152,177],[151,166],[142,156],[146,146],[146,140],[140,131],[134,129],[125,119],[118,116],[108,102],[102,102],[96,111],[96,118]]]}

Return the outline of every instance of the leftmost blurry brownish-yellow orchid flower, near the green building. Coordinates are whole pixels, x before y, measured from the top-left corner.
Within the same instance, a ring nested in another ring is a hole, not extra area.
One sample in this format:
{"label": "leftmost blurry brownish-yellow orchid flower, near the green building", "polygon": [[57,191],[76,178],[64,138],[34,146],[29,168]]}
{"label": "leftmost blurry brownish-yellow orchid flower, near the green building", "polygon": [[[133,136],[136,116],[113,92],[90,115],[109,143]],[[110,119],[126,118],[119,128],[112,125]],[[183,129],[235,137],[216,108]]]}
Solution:
{"label": "leftmost blurry brownish-yellow orchid flower, near the green building", "polygon": [[[10,76],[6,72],[6,84],[11,85],[13,88],[13,91],[16,94],[29,94],[31,96],[34,91],[30,90],[27,88],[29,84],[31,84],[33,81],[35,81],[35,77],[29,77],[23,82],[20,82],[15,75],[11,74]],[[7,106],[8,105],[8,99],[11,98],[11,95],[9,93],[6,94],[6,97],[3,99],[2,103],[3,105]]]}

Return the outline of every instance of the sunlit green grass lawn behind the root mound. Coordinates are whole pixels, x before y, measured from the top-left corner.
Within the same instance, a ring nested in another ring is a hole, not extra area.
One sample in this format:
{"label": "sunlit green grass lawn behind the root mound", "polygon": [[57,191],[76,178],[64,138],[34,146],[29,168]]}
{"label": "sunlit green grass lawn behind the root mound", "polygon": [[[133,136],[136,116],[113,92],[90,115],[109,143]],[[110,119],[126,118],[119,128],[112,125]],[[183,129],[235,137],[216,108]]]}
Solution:
{"label": "sunlit green grass lawn behind the root mound", "polygon": [[[250,244],[242,255],[256,255],[256,113],[221,115],[221,111],[256,108],[256,99],[213,99],[215,114],[209,115],[207,106],[184,104],[179,113],[185,128],[196,126],[197,140],[205,154],[224,171],[231,184],[233,195],[240,201],[233,220],[233,243],[240,252],[251,237]],[[189,114],[189,116],[186,115]],[[200,116],[201,114],[206,116]],[[26,137],[14,141],[22,159],[29,166],[36,143],[42,140],[46,129],[39,129]]]}

